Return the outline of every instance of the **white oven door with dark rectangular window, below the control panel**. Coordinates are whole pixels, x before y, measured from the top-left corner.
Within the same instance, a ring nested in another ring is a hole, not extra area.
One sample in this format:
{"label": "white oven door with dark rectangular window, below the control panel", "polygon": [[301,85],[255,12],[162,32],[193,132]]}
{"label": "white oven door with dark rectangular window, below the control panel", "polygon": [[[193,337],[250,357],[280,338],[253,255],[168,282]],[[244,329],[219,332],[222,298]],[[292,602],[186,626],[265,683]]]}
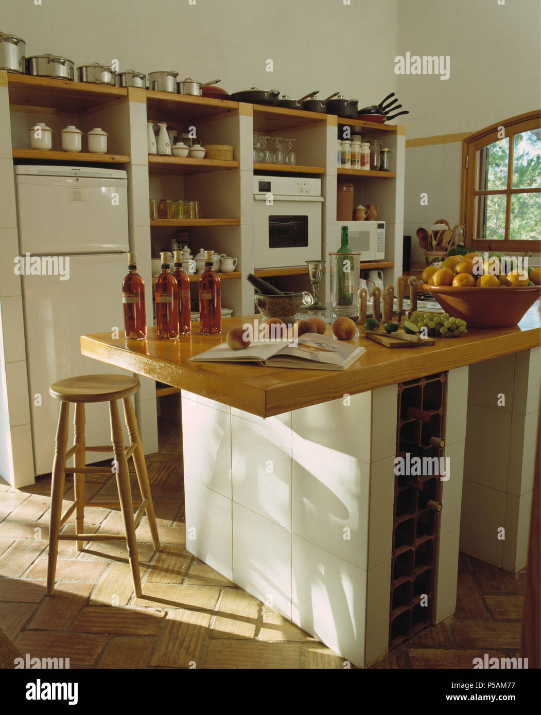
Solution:
{"label": "white oven door with dark rectangular window, below the control panel", "polygon": [[306,265],[321,260],[323,198],[254,195],[253,262],[256,270]]}

